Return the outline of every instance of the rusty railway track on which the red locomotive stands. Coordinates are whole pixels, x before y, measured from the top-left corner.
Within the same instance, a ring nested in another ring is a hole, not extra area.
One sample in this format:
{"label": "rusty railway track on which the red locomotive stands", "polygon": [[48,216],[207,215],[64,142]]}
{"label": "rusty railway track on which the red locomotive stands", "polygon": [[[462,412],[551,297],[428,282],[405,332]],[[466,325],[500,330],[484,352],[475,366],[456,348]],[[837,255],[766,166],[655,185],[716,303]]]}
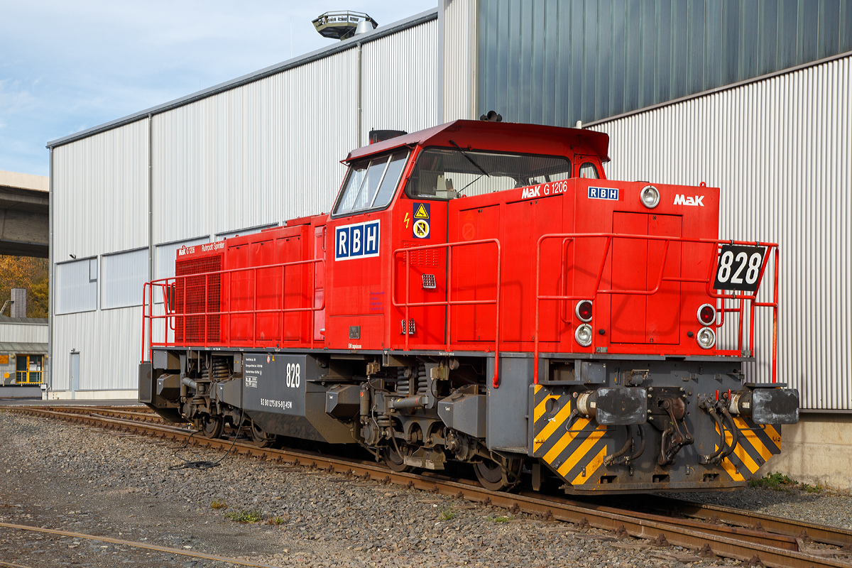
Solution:
{"label": "rusty railway track on which the red locomotive stands", "polygon": [[204,439],[188,425],[164,423],[142,407],[41,406],[8,407],[30,416],[107,427],[120,432],[175,442],[189,439],[195,447],[228,450],[288,468],[322,469],[329,474],[406,485],[469,502],[531,513],[543,519],[613,531],[616,537],[647,539],[656,546],[680,546],[700,556],[740,559],[749,566],[852,568],[852,531],[806,521],[784,519],[740,509],[653,496],[637,500],[639,510],[578,502],[538,493],[487,491],[473,481],[453,480],[435,473],[394,473],[381,464],[317,453],[258,448],[233,439]]}

